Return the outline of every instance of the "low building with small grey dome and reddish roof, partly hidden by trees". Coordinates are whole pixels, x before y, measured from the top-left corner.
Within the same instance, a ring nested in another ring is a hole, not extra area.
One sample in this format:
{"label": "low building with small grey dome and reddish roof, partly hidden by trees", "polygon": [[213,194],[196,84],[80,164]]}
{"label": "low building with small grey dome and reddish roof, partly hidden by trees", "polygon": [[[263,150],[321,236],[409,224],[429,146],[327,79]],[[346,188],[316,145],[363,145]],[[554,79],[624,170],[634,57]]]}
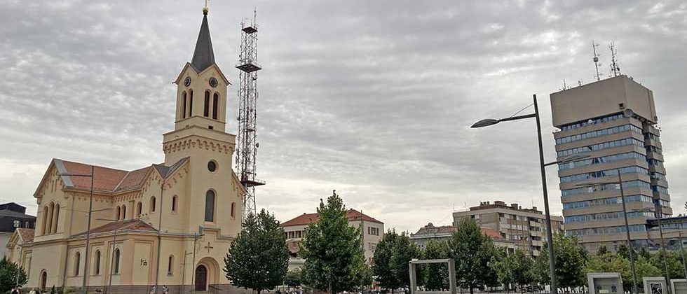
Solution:
{"label": "low building with small grey dome and reddish roof, partly hidden by trees", "polygon": [[[428,223],[426,226],[420,228],[416,233],[410,235],[411,241],[413,241],[417,246],[424,249],[427,242],[434,240],[445,242],[451,239],[451,235],[458,231],[458,227],[455,225],[442,225],[435,226],[432,223]],[[491,239],[494,239],[494,244],[499,247],[506,248],[508,253],[515,251],[515,242],[505,239],[501,234],[496,232],[491,228],[482,228],[482,234]]]}

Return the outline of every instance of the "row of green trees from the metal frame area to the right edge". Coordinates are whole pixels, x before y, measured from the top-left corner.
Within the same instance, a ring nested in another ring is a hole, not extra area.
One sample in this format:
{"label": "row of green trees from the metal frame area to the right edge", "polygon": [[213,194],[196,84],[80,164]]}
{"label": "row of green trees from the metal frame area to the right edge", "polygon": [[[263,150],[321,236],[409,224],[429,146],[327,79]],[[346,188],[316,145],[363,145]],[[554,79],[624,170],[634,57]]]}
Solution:
{"label": "row of green trees from the metal frame area to the right edge", "polygon": [[[629,251],[625,244],[618,246],[617,253],[605,247],[590,254],[578,243],[576,237],[554,236],[556,276],[559,288],[573,289],[587,286],[587,273],[620,272],[623,287],[632,289]],[[413,258],[452,258],[456,267],[456,281],[463,288],[483,290],[504,286],[506,290],[531,285],[550,283],[550,267],[547,246],[536,259],[522,251],[506,254],[504,248],[482,234],[479,225],[470,219],[463,219],[458,230],[447,241],[429,241],[424,250],[409,241],[405,234],[388,232],[377,245],[373,258],[372,272],[379,286],[390,290],[405,288],[410,284],[408,262]],[[669,251],[666,255],[670,279],[683,279],[687,274],[680,251]],[[635,254],[638,287],[644,276],[662,276],[662,251],[650,254],[646,248]],[[427,290],[449,287],[446,264],[426,265],[417,272],[418,284]]]}

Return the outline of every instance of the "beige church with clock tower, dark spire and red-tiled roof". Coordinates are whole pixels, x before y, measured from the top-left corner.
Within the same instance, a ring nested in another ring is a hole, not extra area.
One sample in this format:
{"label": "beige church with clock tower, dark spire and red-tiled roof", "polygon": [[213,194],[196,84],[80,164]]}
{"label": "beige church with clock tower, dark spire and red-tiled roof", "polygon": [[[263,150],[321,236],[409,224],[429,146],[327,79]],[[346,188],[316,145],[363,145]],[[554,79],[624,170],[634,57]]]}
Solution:
{"label": "beige church with clock tower, dark spire and red-tiled roof", "polygon": [[125,171],[50,162],[34,193],[36,229],[17,230],[7,244],[29,276],[25,288],[80,287],[86,275],[90,291],[147,293],[157,284],[158,293],[163,285],[170,293],[243,292],[222,270],[240,232],[245,190],[231,168],[230,84],[215,64],[207,10],[176,85],[175,130],[163,135],[163,164]]}

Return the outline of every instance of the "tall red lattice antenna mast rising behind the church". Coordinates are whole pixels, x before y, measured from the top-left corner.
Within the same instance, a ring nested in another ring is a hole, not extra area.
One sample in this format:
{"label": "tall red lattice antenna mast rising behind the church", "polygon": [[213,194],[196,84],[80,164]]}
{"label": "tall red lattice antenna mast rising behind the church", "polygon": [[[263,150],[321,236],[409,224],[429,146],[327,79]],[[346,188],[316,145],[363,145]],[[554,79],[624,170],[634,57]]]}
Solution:
{"label": "tall red lattice antenna mast rising behind the church", "polygon": [[262,186],[264,181],[255,179],[255,155],[257,155],[256,102],[257,71],[262,69],[257,64],[257,10],[253,11],[253,20],[246,24],[241,22],[241,45],[238,56],[240,85],[238,87],[238,144],[236,146],[236,173],[245,188],[243,196],[243,220],[248,214],[256,213],[255,186]]}

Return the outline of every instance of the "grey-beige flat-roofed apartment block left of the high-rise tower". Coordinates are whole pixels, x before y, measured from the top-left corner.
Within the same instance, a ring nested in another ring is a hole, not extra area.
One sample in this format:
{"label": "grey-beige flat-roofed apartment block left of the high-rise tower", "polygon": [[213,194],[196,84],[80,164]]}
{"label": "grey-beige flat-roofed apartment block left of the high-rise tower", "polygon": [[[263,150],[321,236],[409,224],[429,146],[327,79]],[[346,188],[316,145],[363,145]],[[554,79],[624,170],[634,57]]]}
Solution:
{"label": "grey-beige flat-roofed apartment block left of the high-rise tower", "polygon": [[[545,216],[536,207],[524,209],[517,203],[481,202],[468,211],[454,211],[453,216],[454,225],[463,218],[472,218],[480,227],[498,232],[503,239],[512,241],[517,250],[531,256],[538,256],[546,241]],[[551,216],[551,228],[554,234],[564,232],[563,218]]]}

